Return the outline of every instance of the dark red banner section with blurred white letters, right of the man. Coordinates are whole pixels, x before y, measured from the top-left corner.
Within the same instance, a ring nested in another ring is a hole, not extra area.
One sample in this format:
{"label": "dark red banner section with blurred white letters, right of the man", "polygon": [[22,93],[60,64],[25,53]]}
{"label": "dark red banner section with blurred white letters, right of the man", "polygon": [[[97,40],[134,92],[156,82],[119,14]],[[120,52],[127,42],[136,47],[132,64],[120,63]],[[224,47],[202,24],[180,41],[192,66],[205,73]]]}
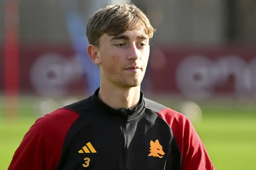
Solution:
{"label": "dark red banner section with blurred white letters, right of the man", "polygon": [[161,51],[167,65],[151,73],[154,92],[201,99],[256,94],[255,47],[166,47]]}

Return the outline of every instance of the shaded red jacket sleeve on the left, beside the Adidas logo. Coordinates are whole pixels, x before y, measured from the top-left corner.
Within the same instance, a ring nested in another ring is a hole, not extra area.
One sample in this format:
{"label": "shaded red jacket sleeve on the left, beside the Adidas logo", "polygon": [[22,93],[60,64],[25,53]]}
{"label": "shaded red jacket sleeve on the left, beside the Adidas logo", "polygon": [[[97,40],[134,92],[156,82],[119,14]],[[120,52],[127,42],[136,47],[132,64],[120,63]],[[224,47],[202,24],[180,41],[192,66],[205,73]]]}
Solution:
{"label": "shaded red jacket sleeve on the left, beside the Adidas logo", "polygon": [[78,117],[68,109],[57,109],[39,118],[15,151],[8,170],[56,169],[67,132]]}

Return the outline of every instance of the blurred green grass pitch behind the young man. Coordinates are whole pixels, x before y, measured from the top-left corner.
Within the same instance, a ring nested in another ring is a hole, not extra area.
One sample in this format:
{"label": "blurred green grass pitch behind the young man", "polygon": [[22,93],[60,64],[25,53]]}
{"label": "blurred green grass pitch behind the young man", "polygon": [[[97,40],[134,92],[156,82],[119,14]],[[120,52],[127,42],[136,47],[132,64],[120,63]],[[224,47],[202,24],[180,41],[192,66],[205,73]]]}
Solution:
{"label": "blurred green grass pitch behind the young man", "polygon": [[[32,101],[31,98],[22,99],[19,119],[6,121],[0,100],[0,170],[8,168],[24,134],[41,116],[36,115],[38,110]],[[157,98],[156,101],[179,110],[177,100]],[[256,106],[253,102],[215,100],[198,104],[203,119],[194,125],[216,170],[255,170]]]}

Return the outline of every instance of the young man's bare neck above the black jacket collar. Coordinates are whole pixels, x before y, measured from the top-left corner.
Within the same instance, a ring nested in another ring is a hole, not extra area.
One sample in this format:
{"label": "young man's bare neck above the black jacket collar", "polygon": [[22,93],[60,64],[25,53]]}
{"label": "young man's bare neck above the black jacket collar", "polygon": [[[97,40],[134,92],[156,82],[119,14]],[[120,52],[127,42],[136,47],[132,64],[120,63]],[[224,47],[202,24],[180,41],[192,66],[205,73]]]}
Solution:
{"label": "young man's bare neck above the black jacket collar", "polygon": [[99,98],[112,108],[135,108],[140,100],[140,86],[120,88],[113,84],[100,83]]}

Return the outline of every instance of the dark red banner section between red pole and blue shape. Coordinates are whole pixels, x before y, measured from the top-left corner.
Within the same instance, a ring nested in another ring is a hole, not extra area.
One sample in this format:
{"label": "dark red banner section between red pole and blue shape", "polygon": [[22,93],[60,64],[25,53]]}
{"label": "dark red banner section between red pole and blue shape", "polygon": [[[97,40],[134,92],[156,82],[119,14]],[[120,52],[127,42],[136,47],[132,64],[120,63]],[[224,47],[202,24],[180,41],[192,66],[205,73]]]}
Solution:
{"label": "dark red banner section between red pole and blue shape", "polygon": [[81,74],[72,72],[81,66],[73,63],[76,57],[71,45],[23,46],[20,58],[20,91],[23,93],[65,96],[85,91]]}

